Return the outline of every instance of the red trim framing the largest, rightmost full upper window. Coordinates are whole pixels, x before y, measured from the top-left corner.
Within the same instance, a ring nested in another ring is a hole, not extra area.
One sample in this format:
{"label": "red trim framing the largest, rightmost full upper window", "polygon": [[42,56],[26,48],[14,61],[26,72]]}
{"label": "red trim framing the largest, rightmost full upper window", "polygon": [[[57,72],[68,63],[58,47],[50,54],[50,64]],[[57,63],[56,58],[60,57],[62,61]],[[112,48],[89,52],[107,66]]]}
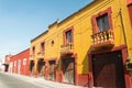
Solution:
{"label": "red trim framing the largest, rightmost full upper window", "polygon": [[106,14],[106,13],[108,13],[110,30],[113,30],[112,18],[111,18],[112,11],[111,11],[111,7],[110,7],[107,10],[100,11],[99,13],[92,15],[91,20],[92,20],[92,26],[94,26],[94,34],[99,32],[99,29],[97,26],[97,18],[99,18],[99,16]]}

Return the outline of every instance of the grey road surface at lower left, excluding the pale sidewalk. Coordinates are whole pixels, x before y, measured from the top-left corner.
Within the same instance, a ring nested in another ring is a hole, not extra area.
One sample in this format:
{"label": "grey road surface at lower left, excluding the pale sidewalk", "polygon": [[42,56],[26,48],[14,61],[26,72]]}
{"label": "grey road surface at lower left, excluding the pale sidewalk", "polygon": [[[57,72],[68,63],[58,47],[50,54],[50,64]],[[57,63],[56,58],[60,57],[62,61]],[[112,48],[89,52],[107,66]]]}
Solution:
{"label": "grey road surface at lower left, excluding the pale sidewalk", "polygon": [[32,82],[0,73],[0,88],[44,88]]}

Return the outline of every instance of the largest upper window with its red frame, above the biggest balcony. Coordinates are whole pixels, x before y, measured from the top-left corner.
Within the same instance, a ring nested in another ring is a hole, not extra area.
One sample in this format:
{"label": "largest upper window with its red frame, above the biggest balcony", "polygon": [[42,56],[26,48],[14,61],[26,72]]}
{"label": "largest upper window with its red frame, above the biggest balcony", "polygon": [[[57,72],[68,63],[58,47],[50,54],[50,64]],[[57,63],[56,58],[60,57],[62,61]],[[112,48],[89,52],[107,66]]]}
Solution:
{"label": "largest upper window with its red frame, above the biggest balcony", "polygon": [[111,13],[111,8],[108,8],[107,10],[92,15],[94,34],[107,30],[113,30]]}

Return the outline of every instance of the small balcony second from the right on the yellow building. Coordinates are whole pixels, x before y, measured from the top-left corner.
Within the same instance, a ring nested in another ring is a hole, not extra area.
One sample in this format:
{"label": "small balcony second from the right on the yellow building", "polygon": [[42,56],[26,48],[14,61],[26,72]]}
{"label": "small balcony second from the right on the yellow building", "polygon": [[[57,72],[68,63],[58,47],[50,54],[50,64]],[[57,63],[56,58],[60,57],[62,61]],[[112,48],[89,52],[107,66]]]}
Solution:
{"label": "small balcony second from the right on the yellow building", "polygon": [[74,44],[67,43],[64,45],[61,45],[61,54],[73,54],[74,53]]}

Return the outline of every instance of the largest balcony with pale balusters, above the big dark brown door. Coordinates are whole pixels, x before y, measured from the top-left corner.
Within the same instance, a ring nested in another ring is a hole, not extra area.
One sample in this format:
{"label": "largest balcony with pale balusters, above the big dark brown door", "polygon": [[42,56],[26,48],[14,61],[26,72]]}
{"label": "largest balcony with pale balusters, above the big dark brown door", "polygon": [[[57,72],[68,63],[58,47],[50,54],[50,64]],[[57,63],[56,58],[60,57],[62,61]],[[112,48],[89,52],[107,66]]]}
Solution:
{"label": "largest balcony with pale balusters, above the big dark brown door", "polygon": [[101,48],[101,47],[111,47],[114,45],[114,35],[113,31],[103,31],[91,35],[92,38],[92,47]]}

